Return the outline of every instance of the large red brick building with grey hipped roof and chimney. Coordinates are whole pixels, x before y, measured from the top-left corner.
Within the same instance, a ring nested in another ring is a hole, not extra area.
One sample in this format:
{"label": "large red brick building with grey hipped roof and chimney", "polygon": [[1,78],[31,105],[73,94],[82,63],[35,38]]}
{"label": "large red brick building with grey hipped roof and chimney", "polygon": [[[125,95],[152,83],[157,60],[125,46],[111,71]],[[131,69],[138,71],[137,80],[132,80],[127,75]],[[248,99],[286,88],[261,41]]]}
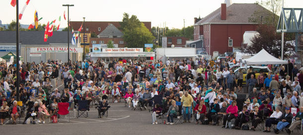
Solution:
{"label": "large red brick building with grey hipped roof and chimney", "polygon": [[271,12],[256,3],[226,3],[201,20],[195,18],[194,40],[203,39],[203,49],[210,55],[233,52],[241,48],[245,31],[255,31],[260,20],[254,16],[268,16]]}

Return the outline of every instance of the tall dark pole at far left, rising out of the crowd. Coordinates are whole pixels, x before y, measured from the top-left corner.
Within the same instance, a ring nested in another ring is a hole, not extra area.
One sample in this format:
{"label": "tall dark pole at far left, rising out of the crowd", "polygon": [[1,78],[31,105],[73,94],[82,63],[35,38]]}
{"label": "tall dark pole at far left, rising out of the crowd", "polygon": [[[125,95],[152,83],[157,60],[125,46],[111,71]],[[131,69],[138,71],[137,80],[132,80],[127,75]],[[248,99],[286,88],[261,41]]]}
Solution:
{"label": "tall dark pole at far left, rising out of the crowd", "polygon": [[17,101],[19,99],[19,83],[20,83],[20,72],[19,72],[19,0],[16,0],[16,68],[17,68],[17,84],[16,84],[16,94],[17,94]]}

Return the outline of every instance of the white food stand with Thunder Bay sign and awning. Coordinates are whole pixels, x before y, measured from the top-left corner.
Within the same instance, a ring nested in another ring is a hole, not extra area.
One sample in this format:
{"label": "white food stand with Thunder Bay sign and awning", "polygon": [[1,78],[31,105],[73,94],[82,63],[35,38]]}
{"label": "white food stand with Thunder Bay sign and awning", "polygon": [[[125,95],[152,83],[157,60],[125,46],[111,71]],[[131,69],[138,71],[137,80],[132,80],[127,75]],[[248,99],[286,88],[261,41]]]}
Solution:
{"label": "white food stand with Thunder Bay sign and awning", "polygon": [[154,52],[143,52],[143,48],[100,48],[90,53],[91,61],[103,60],[105,63],[109,63],[113,60],[142,60],[152,61],[154,60]]}

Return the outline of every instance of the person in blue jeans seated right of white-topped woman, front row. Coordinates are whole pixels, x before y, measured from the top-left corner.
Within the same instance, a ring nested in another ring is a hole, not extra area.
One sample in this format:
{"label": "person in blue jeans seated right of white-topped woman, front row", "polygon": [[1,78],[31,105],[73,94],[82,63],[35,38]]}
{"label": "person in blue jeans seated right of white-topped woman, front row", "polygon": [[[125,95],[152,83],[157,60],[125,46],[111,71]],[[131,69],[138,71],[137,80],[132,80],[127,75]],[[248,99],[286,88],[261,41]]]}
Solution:
{"label": "person in blue jeans seated right of white-topped woman, front row", "polygon": [[285,113],[282,115],[281,121],[278,122],[277,128],[274,129],[276,134],[279,134],[279,132],[286,128],[288,125],[292,123],[293,120],[293,114],[290,111],[289,107],[285,108]]}

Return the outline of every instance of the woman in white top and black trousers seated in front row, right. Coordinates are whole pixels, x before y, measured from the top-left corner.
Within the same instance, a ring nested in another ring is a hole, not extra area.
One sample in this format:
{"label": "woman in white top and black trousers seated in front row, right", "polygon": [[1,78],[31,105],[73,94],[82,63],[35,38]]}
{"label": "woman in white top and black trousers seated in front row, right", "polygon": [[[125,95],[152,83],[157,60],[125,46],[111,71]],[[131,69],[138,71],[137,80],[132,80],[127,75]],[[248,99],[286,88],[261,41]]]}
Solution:
{"label": "woman in white top and black trousers seated in front row, right", "polygon": [[265,131],[263,132],[267,132],[269,133],[270,132],[270,127],[272,124],[278,124],[279,120],[282,116],[282,112],[280,111],[281,110],[281,107],[280,106],[277,106],[276,108],[276,111],[270,116],[270,118],[266,119],[266,122],[265,122]]}

